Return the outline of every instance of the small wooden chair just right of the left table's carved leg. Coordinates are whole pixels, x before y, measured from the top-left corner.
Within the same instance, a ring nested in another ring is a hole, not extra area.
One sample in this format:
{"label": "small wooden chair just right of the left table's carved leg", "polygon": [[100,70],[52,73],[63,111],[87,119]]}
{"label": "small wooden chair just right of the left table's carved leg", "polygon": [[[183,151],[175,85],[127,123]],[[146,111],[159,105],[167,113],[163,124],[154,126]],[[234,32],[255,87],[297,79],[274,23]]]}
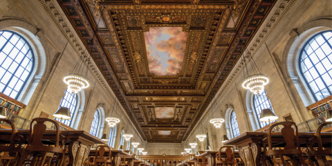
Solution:
{"label": "small wooden chair just right of the left table's carved leg", "polygon": [[[95,161],[94,165],[102,165],[107,166],[108,164],[112,165],[112,148],[107,145],[98,145],[95,148]],[[106,151],[109,151],[109,155],[105,154]]]}

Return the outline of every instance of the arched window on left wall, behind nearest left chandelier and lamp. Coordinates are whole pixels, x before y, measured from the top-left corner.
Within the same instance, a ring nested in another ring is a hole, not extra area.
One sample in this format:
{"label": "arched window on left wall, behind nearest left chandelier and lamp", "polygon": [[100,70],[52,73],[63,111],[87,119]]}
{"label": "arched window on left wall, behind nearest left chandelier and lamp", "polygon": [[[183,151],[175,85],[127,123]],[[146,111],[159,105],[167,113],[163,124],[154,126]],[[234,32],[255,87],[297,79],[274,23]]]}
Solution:
{"label": "arched window on left wall, behind nearest left chandelier and lamp", "polygon": [[[64,98],[62,98],[59,108],[60,107],[66,107],[69,108],[69,111],[71,111],[71,119],[70,120],[62,120],[61,122],[63,124],[66,124],[67,126],[71,126],[71,122],[73,121],[73,116],[76,111],[76,105],[77,105],[77,94],[76,93],[70,93],[69,91],[64,92]],[[59,118],[55,118],[55,120],[59,121]]]}

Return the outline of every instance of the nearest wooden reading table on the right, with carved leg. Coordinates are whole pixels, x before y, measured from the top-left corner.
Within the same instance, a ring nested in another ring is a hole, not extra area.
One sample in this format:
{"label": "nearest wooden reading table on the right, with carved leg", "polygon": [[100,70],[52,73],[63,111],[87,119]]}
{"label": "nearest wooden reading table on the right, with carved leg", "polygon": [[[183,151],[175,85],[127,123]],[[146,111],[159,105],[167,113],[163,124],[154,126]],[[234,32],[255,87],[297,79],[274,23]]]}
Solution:
{"label": "nearest wooden reading table on the right, with carved leg", "polygon": [[[299,144],[300,147],[306,147],[306,142],[309,138],[312,138],[315,132],[299,132]],[[225,142],[225,145],[235,145],[239,148],[239,155],[246,166],[261,165],[261,151],[264,144],[267,144],[268,133],[266,132],[246,132],[242,133],[236,138],[232,138]],[[323,146],[331,147],[332,145],[332,133],[321,133]],[[282,133],[271,133],[271,140],[273,147],[284,147],[286,141],[282,136]],[[317,140],[313,140],[317,142]],[[316,144],[316,143],[315,143]]]}

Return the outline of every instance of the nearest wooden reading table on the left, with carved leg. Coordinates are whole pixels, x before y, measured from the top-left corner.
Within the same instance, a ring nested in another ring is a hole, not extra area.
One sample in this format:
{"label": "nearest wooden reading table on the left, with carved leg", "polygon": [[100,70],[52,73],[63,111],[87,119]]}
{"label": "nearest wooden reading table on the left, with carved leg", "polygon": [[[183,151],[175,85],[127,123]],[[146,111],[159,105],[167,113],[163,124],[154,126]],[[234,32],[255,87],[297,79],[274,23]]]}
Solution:
{"label": "nearest wooden reading table on the left, with carved leg", "polygon": [[[17,131],[19,131],[21,135],[26,136],[26,142],[28,142],[30,130],[19,129]],[[55,130],[46,130],[42,137],[44,145],[54,145],[55,134]],[[91,136],[91,134],[86,131],[65,130],[62,131],[62,135],[66,137],[66,145],[68,145],[68,166],[83,166],[86,161],[86,157],[89,155],[91,146],[94,144],[104,144],[102,140],[95,136]],[[10,142],[11,136],[11,129],[0,129],[0,140],[2,142]]]}

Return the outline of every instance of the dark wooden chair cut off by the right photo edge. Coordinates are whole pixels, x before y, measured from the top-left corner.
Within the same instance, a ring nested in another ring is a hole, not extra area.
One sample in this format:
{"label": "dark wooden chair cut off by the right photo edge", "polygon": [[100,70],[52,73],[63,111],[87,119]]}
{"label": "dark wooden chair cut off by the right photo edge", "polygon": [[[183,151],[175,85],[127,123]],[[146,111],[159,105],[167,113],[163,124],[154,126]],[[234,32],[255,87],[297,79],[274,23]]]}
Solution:
{"label": "dark wooden chair cut off by the right photo edge", "polygon": [[[320,124],[320,127],[317,128],[315,135],[308,139],[307,145],[309,148],[308,151],[306,151],[306,154],[308,155],[308,160],[311,165],[313,165],[314,162],[316,165],[329,165],[326,160],[326,156],[332,156],[332,149],[323,149],[322,138],[320,136],[320,131],[322,131],[322,128],[327,124],[332,124],[332,122]],[[313,147],[314,140],[317,140],[317,148]],[[320,158],[321,160],[317,160],[317,158]]]}

